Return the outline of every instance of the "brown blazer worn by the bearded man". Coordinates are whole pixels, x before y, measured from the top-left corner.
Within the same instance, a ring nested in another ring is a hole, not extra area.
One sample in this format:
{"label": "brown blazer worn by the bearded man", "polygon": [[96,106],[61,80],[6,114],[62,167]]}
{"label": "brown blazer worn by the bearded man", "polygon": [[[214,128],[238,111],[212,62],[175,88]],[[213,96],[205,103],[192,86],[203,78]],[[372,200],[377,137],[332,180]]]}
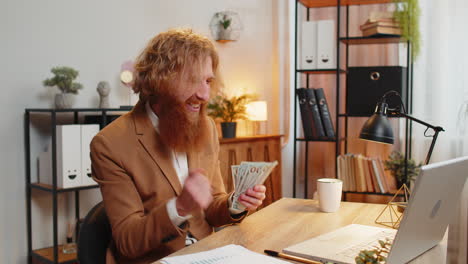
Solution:
{"label": "brown blazer worn by the bearded man", "polygon": [[139,102],[102,129],[91,142],[92,173],[99,183],[112,227],[107,263],[150,263],[185,246],[186,232],[202,239],[213,227],[238,222],[228,210],[219,169],[219,142],[213,120],[210,139],[200,152],[187,153],[188,167],[203,168],[213,202],[193,213],[183,228],[169,219],[166,203],[182,191],[168,148]]}

